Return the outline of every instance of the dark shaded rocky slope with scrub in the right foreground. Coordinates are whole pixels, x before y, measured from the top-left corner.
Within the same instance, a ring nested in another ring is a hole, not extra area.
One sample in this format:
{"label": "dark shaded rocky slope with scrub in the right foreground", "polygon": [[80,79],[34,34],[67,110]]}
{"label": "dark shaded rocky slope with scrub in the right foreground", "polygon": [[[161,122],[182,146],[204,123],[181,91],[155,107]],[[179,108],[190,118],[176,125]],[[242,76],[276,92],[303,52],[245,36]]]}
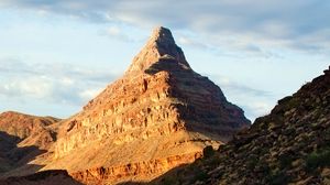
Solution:
{"label": "dark shaded rocky slope with scrub in the right foreground", "polygon": [[330,67],[219,151],[155,184],[330,184]]}

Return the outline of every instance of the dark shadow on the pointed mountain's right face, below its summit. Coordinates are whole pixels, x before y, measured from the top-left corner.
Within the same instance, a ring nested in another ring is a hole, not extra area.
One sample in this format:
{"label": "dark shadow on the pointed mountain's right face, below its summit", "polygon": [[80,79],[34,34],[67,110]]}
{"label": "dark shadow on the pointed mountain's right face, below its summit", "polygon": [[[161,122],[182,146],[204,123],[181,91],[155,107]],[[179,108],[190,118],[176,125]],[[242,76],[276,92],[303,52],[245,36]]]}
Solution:
{"label": "dark shadow on the pointed mountain's right face, below its summit", "polygon": [[229,102],[219,86],[174,57],[165,55],[144,70],[148,75],[161,72],[169,74],[170,97],[182,101],[173,106],[186,120],[188,131],[198,131],[212,140],[228,142],[239,130],[251,126],[243,110]]}

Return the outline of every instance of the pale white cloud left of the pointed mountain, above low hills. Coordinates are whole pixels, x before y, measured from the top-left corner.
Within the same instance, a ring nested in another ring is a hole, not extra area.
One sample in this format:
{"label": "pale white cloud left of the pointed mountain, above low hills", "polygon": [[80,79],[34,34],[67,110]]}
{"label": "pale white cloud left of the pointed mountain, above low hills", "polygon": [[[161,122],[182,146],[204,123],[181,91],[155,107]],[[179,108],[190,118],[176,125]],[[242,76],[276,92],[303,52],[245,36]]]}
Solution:
{"label": "pale white cloud left of the pointed mountain, above low hills", "polygon": [[[12,63],[14,61],[15,63]],[[43,99],[45,102],[82,106],[118,74],[65,64],[0,59],[0,96],[8,99]]]}

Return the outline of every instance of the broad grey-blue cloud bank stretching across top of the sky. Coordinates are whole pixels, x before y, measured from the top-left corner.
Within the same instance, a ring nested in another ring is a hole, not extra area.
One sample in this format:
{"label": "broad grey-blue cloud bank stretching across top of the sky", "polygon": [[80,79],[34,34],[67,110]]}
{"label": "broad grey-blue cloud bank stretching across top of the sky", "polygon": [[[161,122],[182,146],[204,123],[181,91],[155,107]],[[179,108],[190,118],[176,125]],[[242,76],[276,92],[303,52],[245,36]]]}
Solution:
{"label": "broad grey-blue cloud bank stretching across top of the sky", "polygon": [[[165,25],[194,31],[210,45],[273,56],[274,47],[329,54],[330,2],[323,0],[257,1],[108,1],[108,0],[4,0],[0,7],[56,13],[94,23],[119,23],[140,28]],[[120,35],[118,28],[108,33]],[[196,45],[191,37],[182,39]],[[198,45],[198,44],[197,44]]]}

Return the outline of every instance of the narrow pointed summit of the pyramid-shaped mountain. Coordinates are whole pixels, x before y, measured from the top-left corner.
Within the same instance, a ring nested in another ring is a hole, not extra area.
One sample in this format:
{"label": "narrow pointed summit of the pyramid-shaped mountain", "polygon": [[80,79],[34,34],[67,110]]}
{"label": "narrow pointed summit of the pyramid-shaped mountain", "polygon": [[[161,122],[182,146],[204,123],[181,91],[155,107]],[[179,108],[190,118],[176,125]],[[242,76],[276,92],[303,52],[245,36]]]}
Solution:
{"label": "narrow pointed summit of the pyramid-shaped mountain", "polygon": [[153,64],[164,58],[175,61],[183,68],[190,69],[185,54],[176,45],[169,29],[157,26],[153,30],[152,35],[141,52],[133,58],[128,74],[144,73]]}

